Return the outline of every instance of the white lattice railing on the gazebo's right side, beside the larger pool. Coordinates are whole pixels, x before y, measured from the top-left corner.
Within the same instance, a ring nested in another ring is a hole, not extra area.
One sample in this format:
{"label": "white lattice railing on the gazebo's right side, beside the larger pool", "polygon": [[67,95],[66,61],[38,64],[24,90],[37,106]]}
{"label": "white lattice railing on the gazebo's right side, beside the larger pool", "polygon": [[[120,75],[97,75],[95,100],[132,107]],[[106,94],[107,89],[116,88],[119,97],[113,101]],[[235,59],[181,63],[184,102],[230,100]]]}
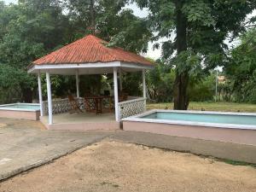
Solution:
{"label": "white lattice railing on the gazebo's right side, beside the larger pool", "polygon": [[119,102],[119,119],[145,112],[146,100],[146,98],[140,97],[125,102]]}

